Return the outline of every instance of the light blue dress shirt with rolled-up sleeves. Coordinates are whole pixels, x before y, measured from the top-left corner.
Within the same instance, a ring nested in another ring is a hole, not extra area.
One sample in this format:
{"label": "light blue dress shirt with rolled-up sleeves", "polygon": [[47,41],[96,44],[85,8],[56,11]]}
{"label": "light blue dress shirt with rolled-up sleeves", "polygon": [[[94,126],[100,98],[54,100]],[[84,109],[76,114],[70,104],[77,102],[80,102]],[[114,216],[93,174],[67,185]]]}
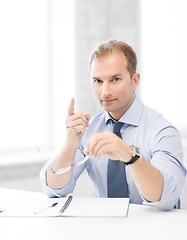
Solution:
{"label": "light blue dress shirt with rolled-up sleeves", "polygon": [[[90,120],[77,149],[75,161],[84,157],[83,150],[92,134],[112,131],[112,121],[108,121],[110,118],[108,112],[104,112]],[[130,202],[153,205],[163,210],[172,209],[180,198],[186,176],[179,132],[160,113],[146,107],[137,97],[119,121],[125,123],[121,129],[122,139],[127,144],[138,147],[144,158],[164,177],[161,200],[148,202],[138,192],[131,170],[126,166]],[[89,158],[84,164],[74,167],[70,183],[62,189],[52,189],[46,185],[45,165],[40,173],[41,182],[49,197],[66,196],[73,192],[78,177],[86,168],[98,195],[107,197],[107,165],[106,156],[99,160]]]}

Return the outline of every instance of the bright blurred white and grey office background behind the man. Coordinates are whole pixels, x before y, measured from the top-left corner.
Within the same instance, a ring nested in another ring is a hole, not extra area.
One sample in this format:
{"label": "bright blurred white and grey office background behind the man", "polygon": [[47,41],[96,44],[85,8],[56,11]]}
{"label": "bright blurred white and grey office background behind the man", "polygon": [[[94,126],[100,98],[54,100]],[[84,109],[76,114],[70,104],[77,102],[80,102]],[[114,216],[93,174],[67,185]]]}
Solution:
{"label": "bright blurred white and grey office background behind the man", "polygon": [[[0,0],[0,186],[42,191],[71,96],[76,111],[101,111],[88,62],[107,39],[134,48],[137,95],[177,126],[186,150],[186,10],[185,0]],[[86,173],[76,193],[95,196]]]}

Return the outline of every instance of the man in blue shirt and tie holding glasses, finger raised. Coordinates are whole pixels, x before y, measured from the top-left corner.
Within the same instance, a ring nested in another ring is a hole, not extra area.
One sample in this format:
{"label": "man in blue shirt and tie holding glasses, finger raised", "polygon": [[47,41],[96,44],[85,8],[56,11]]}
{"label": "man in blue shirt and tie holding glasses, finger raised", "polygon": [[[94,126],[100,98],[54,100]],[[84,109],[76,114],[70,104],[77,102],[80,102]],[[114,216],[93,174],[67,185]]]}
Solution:
{"label": "man in blue shirt and tie holding glasses, finger raised", "polygon": [[[164,210],[176,206],[186,175],[180,136],[136,97],[136,65],[135,52],[122,41],[108,41],[92,53],[92,87],[105,112],[90,120],[89,113],[74,112],[71,100],[63,150],[41,171],[49,196],[73,192],[86,168],[101,197],[129,197]],[[85,155],[82,165],[56,174]]]}

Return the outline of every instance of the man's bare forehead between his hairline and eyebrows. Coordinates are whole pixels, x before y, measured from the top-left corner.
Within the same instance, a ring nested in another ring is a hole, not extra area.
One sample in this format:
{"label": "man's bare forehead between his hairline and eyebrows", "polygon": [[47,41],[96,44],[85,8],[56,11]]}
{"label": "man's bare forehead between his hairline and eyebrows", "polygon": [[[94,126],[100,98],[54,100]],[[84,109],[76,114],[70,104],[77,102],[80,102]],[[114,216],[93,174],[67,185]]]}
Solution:
{"label": "man's bare forehead between his hairline and eyebrows", "polygon": [[114,76],[127,71],[127,60],[122,52],[115,52],[96,58],[91,64],[91,75]]}

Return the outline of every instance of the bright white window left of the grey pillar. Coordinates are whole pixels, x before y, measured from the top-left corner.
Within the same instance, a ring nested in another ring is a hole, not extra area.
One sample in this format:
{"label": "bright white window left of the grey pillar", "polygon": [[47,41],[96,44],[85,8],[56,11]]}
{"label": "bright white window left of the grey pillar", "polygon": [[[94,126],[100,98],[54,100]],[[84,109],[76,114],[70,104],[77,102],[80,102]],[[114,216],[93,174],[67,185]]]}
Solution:
{"label": "bright white window left of the grey pillar", "polygon": [[74,1],[0,0],[0,33],[0,154],[54,148],[74,95]]}

